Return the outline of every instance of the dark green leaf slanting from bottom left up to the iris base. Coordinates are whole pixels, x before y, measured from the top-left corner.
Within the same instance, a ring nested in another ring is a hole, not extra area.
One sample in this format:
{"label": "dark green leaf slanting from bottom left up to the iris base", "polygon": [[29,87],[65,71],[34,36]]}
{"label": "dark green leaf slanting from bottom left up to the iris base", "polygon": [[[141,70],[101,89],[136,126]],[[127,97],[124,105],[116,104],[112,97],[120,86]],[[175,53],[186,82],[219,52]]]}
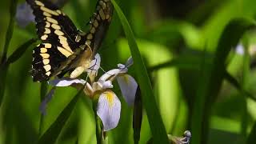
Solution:
{"label": "dark green leaf slanting from bottom left up to the iris base", "polygon": [[62,110],[62,113],[58,115],[56,121],[50,126],[48,130],[42,137],[38,140],[38,144],[54,144],[56,142],[58,135],[61,133],[63,126],[65,126],[66,121],[70,118],[70,114],[74,110],[75,104],[78,102],[79,94],[81,94],[82,90],[78,92],[74,96],[74,98],[70,101],[70,103]]}

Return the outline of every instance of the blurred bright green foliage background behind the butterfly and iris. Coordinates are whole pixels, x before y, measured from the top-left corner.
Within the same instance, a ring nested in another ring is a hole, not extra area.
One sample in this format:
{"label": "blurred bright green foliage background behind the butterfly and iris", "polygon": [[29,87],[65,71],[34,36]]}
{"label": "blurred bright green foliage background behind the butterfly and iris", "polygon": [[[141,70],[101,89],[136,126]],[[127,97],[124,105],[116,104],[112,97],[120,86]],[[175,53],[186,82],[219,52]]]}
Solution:
{"label": "blurred bright green foliage background behind the butterfly and iris", "polygon": [[[6,42],[10,2],[12,1],[2,1],[0,5],[0,54]],[[18,1],[18,3],[22,2],[24,1]],[[96,2],[96,0],[70,0],[66,1],[62,10],[79,29],[86,30],[88,28],[86,22],[89,22],[90,15],[94,12]],[[194,117],[197,116],[196,113],[203,113],[208,115],[201,119],[199,126],[204,125],[208,120],[210,125],[206,126],[207,133],[199,134],[201,141],[195,142],[209,144],[248,142],[246,139],[256,122],[254,28],[247,30],[240,39],[243,54],[238,53],[236,46],[233,46],[228,58],[223,62],[228,74],[236,81],[223,78],[218,85],[220,89],[214,91],[210,102],[207,100],[209,99],[207,95],[204,95],[205,98],[199,97],[201,91],[205,90],[204,85],[207,85],[202,82],[202,79],[207,78],[207,74],[206,76],[202,74],[202,69],[208,70],[207,66],[214,65],[212,61],[216,58],[215,51],[219,46],[223,30],[234,18],[254,20],[256,2],[254,0],[118,0],[117,2],[130,22],[138,42],[167,134],[181,136],[185,130],[192,130],[193,141],[193,135],[197,135],[197,129],[201,129],[196,127],[198,125],[194,123],[196,119]],[[236,34],[236,30],[233,29],[232,33]],[[15,22],[7,56],[30,38],[36,37],[34,23],[21,28]],[[33,82],[30,76],[32,49],[33,47],[30,47],[18,61],[10,65],[5,81],[0,78],[2,80],[0,86],[5,86],[0,107],[0,144],[34,143],[40,135],[41,114],[38,108],[41,102],[41,83]],[[104,70],[113,69],[118,63],[124,63],[130,57],[126,36],[116,12],[98,53],[102,56]],[[202,63],[206,67],[202,66]],[[133,67],[129,73],[135,75]],[[135,78],[139,78],[139,75]],[[109,143],[134,143],[133,107],[127,106],[120,90],[115,91],[122,101],[122,114],[118,127],[108,133]],[[58,114],[75,94],[77,90],[73,88],[64,87],[56,90],[54,98],[47,106],[47,114],[42,118],[41,134],[58,118]],[[202,103],[205,107],[202,106],[201,109],[199,105]],[[146,143],[150,138],[149,122],[146,112],[143,111],[140,143]],[[79,98],[57,143],[96,143],[94,114],[89,98]]]}

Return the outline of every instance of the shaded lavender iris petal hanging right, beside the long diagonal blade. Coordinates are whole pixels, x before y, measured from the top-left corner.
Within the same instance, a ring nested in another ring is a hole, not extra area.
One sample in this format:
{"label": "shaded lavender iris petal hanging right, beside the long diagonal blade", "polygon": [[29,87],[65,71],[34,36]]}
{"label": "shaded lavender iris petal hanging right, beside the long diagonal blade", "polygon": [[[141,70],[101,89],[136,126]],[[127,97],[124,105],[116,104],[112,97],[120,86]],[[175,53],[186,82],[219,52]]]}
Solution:
{"label": "shaded lavender iris petal hanging right, beside the long diagonal blade", "polygon": [[122,74],[118,76],[118,84],[129,106],[134,104],[134,98],[138,87],[137,82],[129,74]]}

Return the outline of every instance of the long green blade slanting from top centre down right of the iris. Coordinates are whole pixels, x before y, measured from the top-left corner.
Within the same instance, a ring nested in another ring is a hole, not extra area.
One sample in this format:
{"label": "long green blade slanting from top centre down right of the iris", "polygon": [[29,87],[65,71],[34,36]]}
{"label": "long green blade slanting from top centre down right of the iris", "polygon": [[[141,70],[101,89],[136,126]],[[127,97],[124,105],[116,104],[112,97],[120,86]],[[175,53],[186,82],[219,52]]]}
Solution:
{"label": "long green blade slanting from top centre down right of the iris", "polygon": [[145,106],[146,115],[149,119],[150,130],[153,135],[153,140],[154,142],[158,143],[169,143],[166,134],[166,129],[163,125],[157,103],[154,100],[154,94],[152,91],[152,86],[150,84],[150,78],[146,72],[146,66],[144,65],[141,54],[138,50],[138,45],[135,41],[134,34],[118,4],[114,0],[112,0],[112,2],[114,5],[114,9],[118,13],[120,22],[122,23],[122,28],[126,34],[126,38],[130,46],[130,53],[134,58],[134,67],[136,74],[138,76],[138,84],[142,90],[142,102],[143,106]]}

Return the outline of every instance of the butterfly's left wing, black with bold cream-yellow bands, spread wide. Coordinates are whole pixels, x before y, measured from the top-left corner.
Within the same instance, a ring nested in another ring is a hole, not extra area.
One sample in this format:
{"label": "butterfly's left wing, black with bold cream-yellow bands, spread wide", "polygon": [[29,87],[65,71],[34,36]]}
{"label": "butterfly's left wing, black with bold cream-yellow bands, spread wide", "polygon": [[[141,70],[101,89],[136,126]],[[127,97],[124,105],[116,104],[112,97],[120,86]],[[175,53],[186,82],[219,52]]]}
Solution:
{"label": "butterfly's left wing, black with bold cream-yellow bands, spread wide", "polygon": [[34,48],[32,77],[34,81],[46,81],[58,74],[65,62],[79,44],[75,42],[78,30],[74,23],[58,10],[57,6],[45,0],[26,0],[35,16],[38,37],[42,43]]}

